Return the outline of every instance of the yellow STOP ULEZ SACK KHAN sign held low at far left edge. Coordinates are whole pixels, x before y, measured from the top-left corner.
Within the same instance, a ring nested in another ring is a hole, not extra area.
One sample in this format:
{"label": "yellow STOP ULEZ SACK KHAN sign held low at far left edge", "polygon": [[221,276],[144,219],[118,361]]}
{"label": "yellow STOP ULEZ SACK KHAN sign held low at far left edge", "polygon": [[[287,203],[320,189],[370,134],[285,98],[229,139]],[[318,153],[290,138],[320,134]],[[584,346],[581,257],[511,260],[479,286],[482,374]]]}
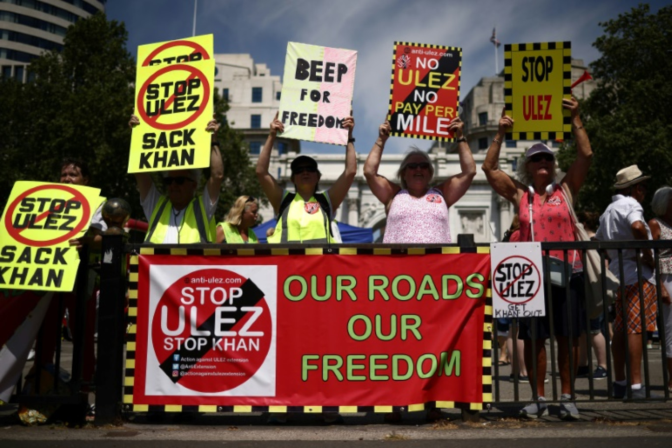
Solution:
{"label": "yellow STOP ULEZ SACK KHAN sign held low at far left edge", "polygon": [[19,181],[0,226],[0,288],[72,291],[82,236],[103,201],[100,190],[67,183]]}

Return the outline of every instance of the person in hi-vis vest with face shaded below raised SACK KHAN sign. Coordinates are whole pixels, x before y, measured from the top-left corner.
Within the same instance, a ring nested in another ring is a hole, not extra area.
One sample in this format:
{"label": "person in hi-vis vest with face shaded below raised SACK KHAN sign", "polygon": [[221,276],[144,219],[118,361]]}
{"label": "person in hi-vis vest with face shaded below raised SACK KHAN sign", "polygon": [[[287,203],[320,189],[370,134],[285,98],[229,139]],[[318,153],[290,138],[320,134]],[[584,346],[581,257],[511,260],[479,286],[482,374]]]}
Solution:
{"label": "person in hi-vis vest with face shaded below raised SACK KHAN sign", "polygon": [[[132,116],[128,124],[140,124]],[[210,178],[201,194],[196,194],[200,169],[165,171],[161,194],[149,173],[135,173],[140,192],[140,205],[149,220],[144,242],[194,243],[214,242],[214,212],[219,200],[219,189],[224,179],[224,165],[216,140],[219,124],[210,120],[206,130],[212,132],[210,145]]]}

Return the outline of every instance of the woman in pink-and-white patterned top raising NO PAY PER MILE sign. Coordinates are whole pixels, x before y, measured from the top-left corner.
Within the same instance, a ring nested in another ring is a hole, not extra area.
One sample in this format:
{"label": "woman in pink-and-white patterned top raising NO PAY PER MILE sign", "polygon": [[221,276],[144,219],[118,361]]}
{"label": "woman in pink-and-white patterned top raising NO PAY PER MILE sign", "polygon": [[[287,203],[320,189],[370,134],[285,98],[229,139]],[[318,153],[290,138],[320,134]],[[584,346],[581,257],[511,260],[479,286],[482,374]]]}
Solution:
{"label": "woman in pink-and-white patterned top raising NO PAY PER MILE sign", "polygon": [[[387,224],[383,242],[448,243],[450,220],[448,208],[466,193],[476,175],[476,164],[466,138],[464,123],[454,118],[448,130],[454,132],[460,154],[460,173],[448,177],[436,187],[429,183],[434,167],[427,152],[411,148],[397,171],[401,186],[378,174],[385,142],[390,136],[390,123],[378,127],[378,139],[364,163],[364,177],[369,187],[385,206]],[[419,200],[422,199],[422,200]]]}

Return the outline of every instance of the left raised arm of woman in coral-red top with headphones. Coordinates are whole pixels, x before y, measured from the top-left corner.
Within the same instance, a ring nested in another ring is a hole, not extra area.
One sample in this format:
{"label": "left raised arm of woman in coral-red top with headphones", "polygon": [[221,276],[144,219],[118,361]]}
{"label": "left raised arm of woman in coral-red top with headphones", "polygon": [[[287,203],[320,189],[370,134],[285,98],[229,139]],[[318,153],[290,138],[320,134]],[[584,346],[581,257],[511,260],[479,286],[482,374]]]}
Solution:
{"label": "left raised arm of woman in coral-red top with headphones", "polygon": [[483,165],[480,168],[485,173],[485,177],[488,179],[491,187],[497,191],[497,194],[518,206],[525,185],[499,169],[499,152],[502,148],[502,141],[506,135],[507,128],[510,128],[511,126],[513,126],[513,118],[506,115],[506,109],[502,109],[502,116],[499,118],[497,134],[495,135],[490,148],[488,148],[488,153],[485,155],[485,161],[483,161]]}

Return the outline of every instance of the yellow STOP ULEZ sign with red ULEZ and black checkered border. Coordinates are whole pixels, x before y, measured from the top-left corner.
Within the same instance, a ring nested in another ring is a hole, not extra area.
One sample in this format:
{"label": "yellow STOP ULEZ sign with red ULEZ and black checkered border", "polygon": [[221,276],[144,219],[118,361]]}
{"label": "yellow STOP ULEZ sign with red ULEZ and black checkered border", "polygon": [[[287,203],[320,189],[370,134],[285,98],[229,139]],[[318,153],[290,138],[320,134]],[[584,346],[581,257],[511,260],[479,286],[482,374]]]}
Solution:
{"label": "yellow STOP ULEZ sign with red ULEZ and black checkered border", "polygon": [[507,140],[571,138],[570,112],[562,99],[572,94],[571,42],[504,46],[504,102],[513,118]]}

